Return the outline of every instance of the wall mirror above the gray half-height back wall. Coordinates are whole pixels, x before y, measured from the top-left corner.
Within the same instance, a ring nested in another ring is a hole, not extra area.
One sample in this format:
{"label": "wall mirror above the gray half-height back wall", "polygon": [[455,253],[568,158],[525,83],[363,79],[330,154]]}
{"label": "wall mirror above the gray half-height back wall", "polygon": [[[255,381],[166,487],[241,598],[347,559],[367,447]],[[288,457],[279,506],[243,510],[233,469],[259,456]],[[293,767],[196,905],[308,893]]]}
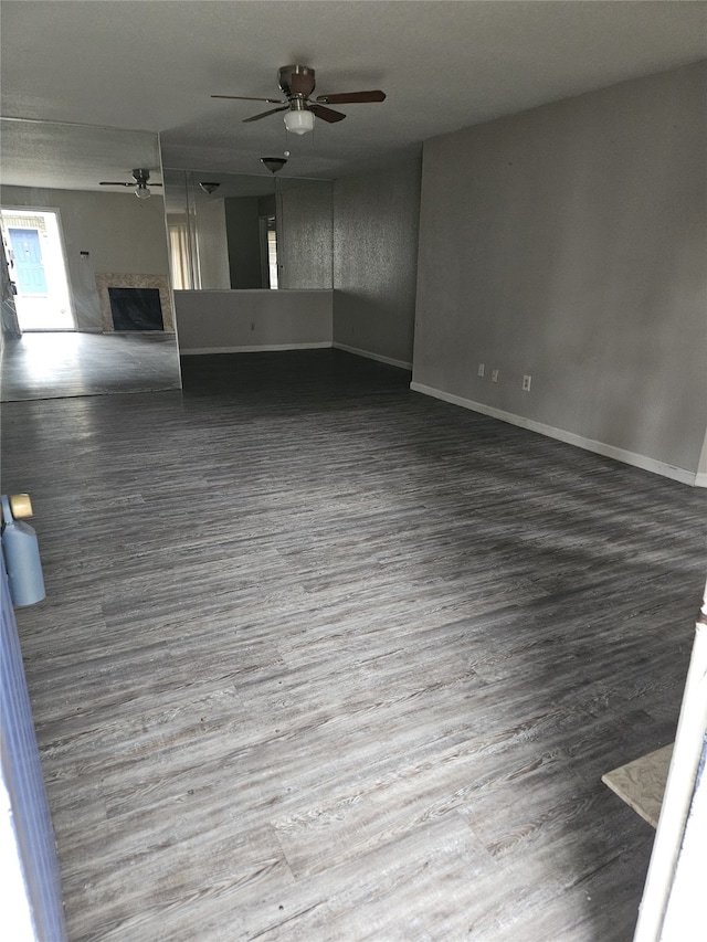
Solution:
{"label": "wall mirror above the gray half-height back wall", "polygon": [[330,180],[165,168],[165,208],[177,289],[333,286]]}

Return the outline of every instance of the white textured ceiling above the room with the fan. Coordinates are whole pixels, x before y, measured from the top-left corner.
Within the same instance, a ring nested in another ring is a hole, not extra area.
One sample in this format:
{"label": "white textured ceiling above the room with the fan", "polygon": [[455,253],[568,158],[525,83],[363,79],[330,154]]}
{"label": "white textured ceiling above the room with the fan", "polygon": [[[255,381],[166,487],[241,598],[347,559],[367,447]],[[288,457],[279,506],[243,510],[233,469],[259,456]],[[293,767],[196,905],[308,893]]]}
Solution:
{"label": "white textured ceiling above the room with the fan", "polygon": [[[707,3],[659,0],[3,0],[4,116],[157,130],[165,166],[336,177],[421,141],[704,59]],[[382,104],[287,135],[268,107],[281,65],[317,93],[382,88]],[[125,168],[126,172],[134,166]],[[128,177],[129,179],[129,177]]]}

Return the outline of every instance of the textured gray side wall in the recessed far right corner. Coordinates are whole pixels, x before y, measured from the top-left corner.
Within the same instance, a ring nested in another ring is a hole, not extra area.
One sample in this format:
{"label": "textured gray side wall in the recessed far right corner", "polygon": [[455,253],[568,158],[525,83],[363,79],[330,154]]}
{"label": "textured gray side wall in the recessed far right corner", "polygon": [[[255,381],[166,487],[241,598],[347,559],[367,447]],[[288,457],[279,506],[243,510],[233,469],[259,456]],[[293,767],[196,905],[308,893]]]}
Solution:
{"label": "textured gray side wall in the recessed far right corner", "polygon": [[334,341],[412,362],[421,163],[334,184]]}

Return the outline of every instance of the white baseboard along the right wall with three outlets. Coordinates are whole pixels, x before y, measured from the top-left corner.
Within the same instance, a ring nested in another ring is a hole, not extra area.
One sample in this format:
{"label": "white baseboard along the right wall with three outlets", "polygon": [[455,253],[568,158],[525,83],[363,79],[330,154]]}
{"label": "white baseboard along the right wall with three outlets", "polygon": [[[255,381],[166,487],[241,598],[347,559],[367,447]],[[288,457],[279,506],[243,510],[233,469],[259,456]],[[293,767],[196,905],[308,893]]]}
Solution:
{"label": "white baseboard along the right wall with three outlets", "polygon": [[[669,477],[672,480],[677,480],[680,484],[688,484],[693,487],[707,487],[707,475],[696,475],[694,472],[678,468],[675,465],[668,465],[666,462],[658,462],[645,455],[637,455],[624,448],[616,448],[613,445],[606,445],[593,438],[584,438],[581,435],[576,435],[573,432],[555,428],[552,425],[545,425],[542,422],[536,422],[523,415],[515,415],[513,412],[504,412],[502,409],[494,409],[494,406],[486,405],[483,402],[463,399],[461,395],[453,395],[433,387],[424,385],[424,383],[412,382],[410,383],[410,389],[413,392],[421,392],[423,395],[441,399],[443,402],[449,402],[452,405],[461,405],[463,409],[469,409],[472,412],[481,412],[483,415],[488,415],[492,419],[499,419],[502,422],[508,422],[510,425],[517,425],[530,432],[538,432],[540,435],[547,435],[548,438],[557,438],[559,442],[574,445],[577,448],[583,448],[585,452],[593,452],[597,455],[603,455],[605,458],[614,458],[614,461],[658,474],[662,477]],[[703,478],[705,480],[701,480]]]}

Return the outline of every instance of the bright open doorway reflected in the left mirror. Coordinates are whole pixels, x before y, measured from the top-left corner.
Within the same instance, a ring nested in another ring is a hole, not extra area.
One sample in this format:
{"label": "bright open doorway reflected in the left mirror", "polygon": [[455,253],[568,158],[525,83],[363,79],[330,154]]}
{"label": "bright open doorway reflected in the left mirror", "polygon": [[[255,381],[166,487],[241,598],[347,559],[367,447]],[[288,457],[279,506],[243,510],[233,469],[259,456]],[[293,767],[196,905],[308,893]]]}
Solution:
{"label": "bright open doorway reflected in the left mirror", "polygon": [[3,207],[0,229],[20,329],[75,330],[59,212]]}

